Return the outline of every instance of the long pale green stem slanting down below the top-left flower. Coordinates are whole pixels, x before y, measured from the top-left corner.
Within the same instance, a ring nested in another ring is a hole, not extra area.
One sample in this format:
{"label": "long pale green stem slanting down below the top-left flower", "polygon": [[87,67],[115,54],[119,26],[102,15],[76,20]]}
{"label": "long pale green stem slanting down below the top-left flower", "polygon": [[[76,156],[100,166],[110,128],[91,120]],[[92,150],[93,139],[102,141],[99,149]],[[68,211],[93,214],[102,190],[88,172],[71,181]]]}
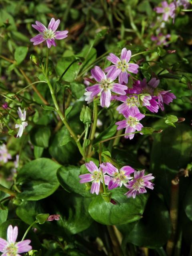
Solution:
{"label": "long pale green stem slanting down below the top-left flower", "polygon": [[50,80],[48,79],[48,77],[46,76],[46,80],[47,80],[47,84],[49,86],[49,89],[50,89],[50,93],[51,93],[51,96],[52,96],[52,100],[54,102],[54,105],[55,105],[55,109],[56,109],[56,112],[58,113],[58,115],[60,116],[62,122],[64,123],[64,125],[66,126],[67,130],[69,131],[69,133],[71,134],[72,138],[74,138],[74,141],[76,142],[77,146],[78,146],[78,149],[80,151],[80,153],[82,154],[82,156],[84,157],[85,159],[85,156],[84,156],[84,152],[83,152],[83,149],[82,149],[82,146],[76,136],[76,134],[73,132],[73,130],[71,129],[71,127],[69,126],[68,122],[66,121],[66,119],[64,118],[61,110],[59,109],[59,106],[58,106],[58,103],[57,103],[57,100],[55,98],[55,95],[54,95],[54,91],[53,91],[53,88],[52,88],[52,85],[50,83]]}

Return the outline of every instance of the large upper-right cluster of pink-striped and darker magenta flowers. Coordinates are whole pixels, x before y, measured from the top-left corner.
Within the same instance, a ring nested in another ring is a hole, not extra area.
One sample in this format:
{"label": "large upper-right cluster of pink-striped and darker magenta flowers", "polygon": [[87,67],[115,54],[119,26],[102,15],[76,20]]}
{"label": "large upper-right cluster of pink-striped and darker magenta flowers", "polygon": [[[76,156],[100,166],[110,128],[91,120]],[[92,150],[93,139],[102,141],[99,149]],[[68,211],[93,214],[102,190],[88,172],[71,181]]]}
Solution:
{"label": "large upper-right cluster of pink-striped and darker magenta flowers", "polygon": [[[111,100],[123,102],[116,110],[126,119],[116,122],[117,130],[126,128],[125,133],[132,134],[126,135],[125,138],[131,140],[134,138],[134,132],[141,131],[143,127],[139,121],[145,115],[140,113],[139,108],[146,107],[150,112],[157,113],[159,108],[164,110],[164,104],[168,105],[176,96],[170,90],[157,88],[160,81],[156,78],[152,78],[149,82],[146,78],[142,81],[135,80],[132,88],[128,88],[126,86],[130,76],[128,72],[137,74],[139,67],[137,64],[129,63],[130,58],[131,51],[123,48],[120,59],[112,53],[107,57],[114,64],[105,69],[107,74],[100,67],[95,66],[91,74],[97,83],[86,88],[85,100],[90,103],[94,97],[100,96],[101,106],[107,108]],[[119,83],[115,82],[117,76]]]}

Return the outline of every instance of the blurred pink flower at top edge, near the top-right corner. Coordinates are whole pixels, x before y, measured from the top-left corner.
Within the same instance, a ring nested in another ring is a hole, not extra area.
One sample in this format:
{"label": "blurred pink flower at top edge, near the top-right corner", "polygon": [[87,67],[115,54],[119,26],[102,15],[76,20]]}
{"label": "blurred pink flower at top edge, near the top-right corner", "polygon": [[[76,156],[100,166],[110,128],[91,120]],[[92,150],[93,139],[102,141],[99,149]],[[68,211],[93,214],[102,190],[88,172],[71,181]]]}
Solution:
{"label": "blurred pink flower at top edge, near the top-right corner", "polygon": [[169,16],[171,18],[175,17],[175,4],[174,3],[170,3],[168,4],[166,1],[161,2],[162,7],[156,7],[154,8],[154,10],[157,13],[163,13],[163,20],[164,21],[168,21]]}

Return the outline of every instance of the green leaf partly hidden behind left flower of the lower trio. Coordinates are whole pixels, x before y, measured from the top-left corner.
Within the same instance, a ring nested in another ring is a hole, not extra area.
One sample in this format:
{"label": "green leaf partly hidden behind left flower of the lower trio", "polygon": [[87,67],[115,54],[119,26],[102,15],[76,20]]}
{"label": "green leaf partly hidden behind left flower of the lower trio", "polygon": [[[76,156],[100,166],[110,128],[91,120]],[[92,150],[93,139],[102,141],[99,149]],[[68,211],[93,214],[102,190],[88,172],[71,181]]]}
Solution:
{"label": "green leaf partly hidden behind left flower of the lower trio", "polygon": [[57,171],[57,178],[60,185],[68,192],[75,192],[82,196],[90,197],[92,196],[90,194],[90,187],[86,183],[80,184],[80,174],[80,168],[77,166],[62,166]]}

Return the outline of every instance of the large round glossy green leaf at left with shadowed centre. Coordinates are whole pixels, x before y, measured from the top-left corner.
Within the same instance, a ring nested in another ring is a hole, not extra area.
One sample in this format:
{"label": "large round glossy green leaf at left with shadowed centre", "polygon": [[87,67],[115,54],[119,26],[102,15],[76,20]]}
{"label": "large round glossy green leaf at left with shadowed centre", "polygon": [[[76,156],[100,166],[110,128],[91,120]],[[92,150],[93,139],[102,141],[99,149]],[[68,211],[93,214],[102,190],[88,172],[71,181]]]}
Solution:
{"label": "large round glossy green leaf at left with shadowed centre", "polygon": [[59,186],[56,171],[60,165],[48,158],[39,158],[25,164],[19,171],[16,184],[24,200],[40,200],[50,196]]}

